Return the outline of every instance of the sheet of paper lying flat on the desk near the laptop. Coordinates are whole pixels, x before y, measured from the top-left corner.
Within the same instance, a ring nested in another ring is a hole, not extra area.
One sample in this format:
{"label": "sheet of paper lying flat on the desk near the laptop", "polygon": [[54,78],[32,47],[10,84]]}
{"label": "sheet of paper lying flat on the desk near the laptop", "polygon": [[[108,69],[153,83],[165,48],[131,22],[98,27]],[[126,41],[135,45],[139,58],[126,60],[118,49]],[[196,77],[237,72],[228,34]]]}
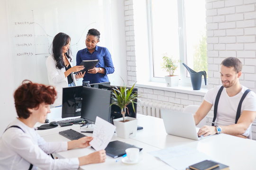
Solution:
{"label": "sheet of paper lying flat on the desk near the laptop", "polygon": [[175,170],[185,170],[194,163],[211,160],[208,155],[184,145],[161,149],[150,152],[150,154],[161,159]]}

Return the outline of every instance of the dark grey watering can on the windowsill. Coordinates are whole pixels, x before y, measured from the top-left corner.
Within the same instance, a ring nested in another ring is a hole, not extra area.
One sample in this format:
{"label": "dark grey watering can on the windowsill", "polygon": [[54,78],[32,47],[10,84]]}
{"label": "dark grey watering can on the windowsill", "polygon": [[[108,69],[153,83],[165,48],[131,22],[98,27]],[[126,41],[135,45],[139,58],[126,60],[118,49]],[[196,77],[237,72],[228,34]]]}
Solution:
{"label": "dark grey watering can on the windowsill", "polygon": [[195,72],[191,68],[189,68],[185,63],[182,63],[185,68],[187,68],[190,78],[191,78],[191,83],[193,90],[200,90],[201,88],[201,82],[202,82],[202,75],[204,77],[204,83],[206,85],[206,72],[205,71],[200,71],[200,72]]}

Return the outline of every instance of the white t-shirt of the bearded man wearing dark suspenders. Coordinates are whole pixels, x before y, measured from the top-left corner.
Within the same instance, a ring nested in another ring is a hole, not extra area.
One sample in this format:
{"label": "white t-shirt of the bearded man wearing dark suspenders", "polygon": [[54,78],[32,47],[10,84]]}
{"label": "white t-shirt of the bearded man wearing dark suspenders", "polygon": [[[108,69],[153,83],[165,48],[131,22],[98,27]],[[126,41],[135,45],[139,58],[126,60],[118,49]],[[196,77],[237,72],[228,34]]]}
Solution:
{"label": "white t-shirt of the bearded man wearing dark suspenders", "polygon": [[[215,99],[216,99],[217,93],[219,92],[220,87],[221,85],[210,89],[205,94],[204,100],[214,106]],[[239,92],[235,96],[229,97],[226,91],[226,88],[225,87],[223,88],[222,93],[220,94],[220,97],[219,97],[217,117],[215,120],[216,126],[228,126],[228,125],[235,124],[238,104],[242,98],[242,95],[245,93],[247,89],[248,89],[247,87],[242,86],[241,92]],[[246,98],[242,102],[241,113],[244,110],[256,111],[256,94],[252,91],[247,94]],[[243,134],[244,136],[249,136],[250,128],[251,128],[251,125],[247,128],[246,132]]]}

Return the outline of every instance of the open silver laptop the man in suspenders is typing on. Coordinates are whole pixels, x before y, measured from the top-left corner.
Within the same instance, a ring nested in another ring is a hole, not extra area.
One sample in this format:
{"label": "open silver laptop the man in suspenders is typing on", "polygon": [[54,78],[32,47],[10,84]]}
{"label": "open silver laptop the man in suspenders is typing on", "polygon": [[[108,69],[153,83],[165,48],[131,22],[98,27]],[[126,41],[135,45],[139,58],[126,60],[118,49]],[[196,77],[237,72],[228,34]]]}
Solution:
{"label": "open silver laptop the man in suspenders is typing on", "polygon": [[201,140],[209,137],[199,137],[197,135],[200,128],[196,127],[192,113],[161,109],[161,117],[164,120],[165,131],[169,135],[185,137],[193,140]]}

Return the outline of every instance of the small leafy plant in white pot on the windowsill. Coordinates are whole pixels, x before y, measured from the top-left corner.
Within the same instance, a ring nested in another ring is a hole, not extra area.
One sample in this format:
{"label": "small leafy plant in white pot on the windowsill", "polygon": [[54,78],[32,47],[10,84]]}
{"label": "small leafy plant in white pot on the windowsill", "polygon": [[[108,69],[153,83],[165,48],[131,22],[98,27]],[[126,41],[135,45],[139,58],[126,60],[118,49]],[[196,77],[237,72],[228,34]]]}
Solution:
{"label": "small leafy plant in white pot on the windowsill", "polygon": [[164,62],[163,62],[162,68],[164,68],[165,71],[169,73],[169,76],[165,76],[166,85],[178,86],[179,76],[174,75],[174,71],[176,70],[176,68],[178,68],[179,60],[175,60],[168,57],[166,53],[164,54],[163,60]]}

